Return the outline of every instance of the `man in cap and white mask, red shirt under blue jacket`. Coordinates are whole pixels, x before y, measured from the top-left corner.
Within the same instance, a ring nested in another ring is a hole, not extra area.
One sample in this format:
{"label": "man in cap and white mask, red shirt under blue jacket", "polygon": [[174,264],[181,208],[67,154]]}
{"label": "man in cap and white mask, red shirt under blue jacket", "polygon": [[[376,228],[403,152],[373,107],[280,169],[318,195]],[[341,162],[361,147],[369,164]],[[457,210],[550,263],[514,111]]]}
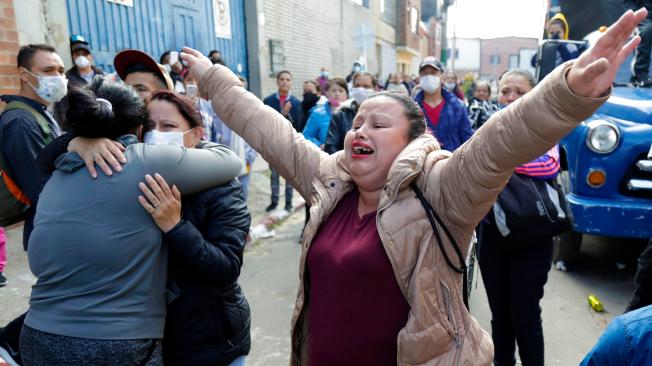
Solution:
{"label": "man in cap and white mask, red shirt under blue jacket", "polygon": [[462,102],[442,88],[443,72],[444,67],[436,57],[423,59],[419,65],[421,90],[414,99],[423,111],[428,131],[443,149],[454,151],[473,135],[473,129]]}

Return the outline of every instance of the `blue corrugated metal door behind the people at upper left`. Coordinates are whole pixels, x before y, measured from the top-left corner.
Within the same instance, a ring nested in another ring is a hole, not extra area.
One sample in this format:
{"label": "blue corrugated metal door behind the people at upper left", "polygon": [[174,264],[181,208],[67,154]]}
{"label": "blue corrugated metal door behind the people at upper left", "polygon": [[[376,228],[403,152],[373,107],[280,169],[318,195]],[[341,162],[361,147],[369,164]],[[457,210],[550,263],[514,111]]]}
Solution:
{"label": "blue corrugated metal door behind the people at upper left", "polygon": [[125,48],[158,61],[166,50],[190,46],[217,49],[234,72],[247,77],[245,0],[228,0],[231,38],[215,35],[213,0],[133,0],[133,7],[106,0],[66,0],[70,34],[90,42],[95,63],[113,72],[113,57]]}

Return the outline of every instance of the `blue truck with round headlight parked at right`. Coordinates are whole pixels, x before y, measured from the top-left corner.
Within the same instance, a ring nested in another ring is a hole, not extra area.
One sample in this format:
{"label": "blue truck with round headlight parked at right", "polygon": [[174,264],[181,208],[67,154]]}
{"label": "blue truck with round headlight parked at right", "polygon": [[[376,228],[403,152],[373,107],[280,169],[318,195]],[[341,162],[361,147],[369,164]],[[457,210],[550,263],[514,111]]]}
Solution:
{"label": "blue truck with round headlight parked at right", "polygon": [[[576,41],[541,42],[539,79],[554,68],[560,42],[590,46],[598,29],[624,12],[619,0],[562,0],[558,6]],[[559,145],[572,230],[558,238],[555,261],[576,259],[584,234],[652,238],[652,89],[629,83],[632,58],[619,70],[609,100]]]}

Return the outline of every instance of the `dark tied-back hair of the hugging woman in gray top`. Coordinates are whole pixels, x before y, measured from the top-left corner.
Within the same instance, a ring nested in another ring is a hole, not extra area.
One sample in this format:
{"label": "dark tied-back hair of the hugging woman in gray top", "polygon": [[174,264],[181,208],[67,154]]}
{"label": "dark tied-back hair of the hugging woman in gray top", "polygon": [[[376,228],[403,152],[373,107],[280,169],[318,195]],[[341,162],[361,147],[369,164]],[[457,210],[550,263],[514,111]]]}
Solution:
{"label": "dark tied-back hair of the hugging woman in gray top", "polygon": [[99,76],[84,88],[71,87],[67,103],[66,123],[76,136],[115,139],[147,122],[145,105],[131,87]]}

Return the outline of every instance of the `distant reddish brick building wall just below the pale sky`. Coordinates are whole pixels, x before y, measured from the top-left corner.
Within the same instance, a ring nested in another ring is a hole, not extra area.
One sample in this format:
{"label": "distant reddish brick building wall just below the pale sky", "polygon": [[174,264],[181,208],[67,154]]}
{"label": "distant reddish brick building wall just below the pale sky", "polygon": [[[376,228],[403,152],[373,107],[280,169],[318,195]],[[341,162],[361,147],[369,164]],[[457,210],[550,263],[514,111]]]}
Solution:
{"label": "distant reddish brick building wall just below the pale sky", "polygon": [[[519,55],[521,49],[537,48],[536,38],[505,37],[483,39],[480,47],[480,76],[497,80],[509,67],[510,55]],[[499,63],[491,63],[491,56],[497,55]],[[517,62],[518,65],[518,62]]]}

